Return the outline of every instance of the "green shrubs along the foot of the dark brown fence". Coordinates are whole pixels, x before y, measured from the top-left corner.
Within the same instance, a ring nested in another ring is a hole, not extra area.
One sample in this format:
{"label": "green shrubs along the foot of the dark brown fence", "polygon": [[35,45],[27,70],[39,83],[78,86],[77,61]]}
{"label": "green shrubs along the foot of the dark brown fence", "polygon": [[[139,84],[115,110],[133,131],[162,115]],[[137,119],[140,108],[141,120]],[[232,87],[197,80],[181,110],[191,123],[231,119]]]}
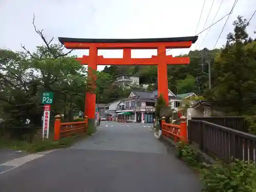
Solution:
{"label": "green shrubs along the foot of the dark brown fence", "polygon": [[256,166],[253,162],[233,160],[230,164],[217,162],[207,165],[199,162],[198,152],[190,145],[179,142],[177,156],[189,166],[200,170],[202,191],[256,191]]}

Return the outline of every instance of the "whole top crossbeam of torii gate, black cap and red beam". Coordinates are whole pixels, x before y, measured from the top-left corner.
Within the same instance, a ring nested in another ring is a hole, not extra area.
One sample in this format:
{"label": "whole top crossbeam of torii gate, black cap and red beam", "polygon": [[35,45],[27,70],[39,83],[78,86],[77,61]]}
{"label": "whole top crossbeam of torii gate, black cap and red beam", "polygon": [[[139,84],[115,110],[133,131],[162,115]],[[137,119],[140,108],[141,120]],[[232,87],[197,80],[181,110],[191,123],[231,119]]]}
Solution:
{"label": "whole top crossbeam of torii gate, black cap and red beam", "polygon": [[58,37],[61,44],[67,49],[157,49],[164,46],[166,49],[189,48],[195,43],[198,36],[169,37],[169,38],[140,38],[140,39],[89,39]]}

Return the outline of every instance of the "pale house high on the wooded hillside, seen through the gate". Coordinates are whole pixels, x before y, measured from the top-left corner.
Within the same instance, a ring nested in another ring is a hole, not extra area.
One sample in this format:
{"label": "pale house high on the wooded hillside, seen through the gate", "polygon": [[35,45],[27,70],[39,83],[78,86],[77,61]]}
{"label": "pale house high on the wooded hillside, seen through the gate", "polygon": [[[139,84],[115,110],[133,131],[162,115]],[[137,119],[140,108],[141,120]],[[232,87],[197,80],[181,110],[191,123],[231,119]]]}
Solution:
{"label": "pale house high on the wooded hillside, seen through the gate", "polygon": [[115,84],[121,87],[127,84],[134,84],[136,86],[139,86],[140,77],[137,75],[127,75],[127,74],[117,75],[115,76]]}

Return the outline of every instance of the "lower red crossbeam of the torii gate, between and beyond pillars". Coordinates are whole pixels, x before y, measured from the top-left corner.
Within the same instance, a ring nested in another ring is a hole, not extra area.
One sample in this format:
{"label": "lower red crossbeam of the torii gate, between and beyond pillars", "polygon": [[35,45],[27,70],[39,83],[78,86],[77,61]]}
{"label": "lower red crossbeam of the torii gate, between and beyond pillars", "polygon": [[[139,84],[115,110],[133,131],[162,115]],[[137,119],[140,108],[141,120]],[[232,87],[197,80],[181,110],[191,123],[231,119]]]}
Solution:
{"label": "lower red crossbeam of the torii gate, between and beyond pillars", "polygon": [[[129,55],[129,51],[127,51]],[[152,55],[152,58],[129,58],[125,56],[124,58],[104,58],[103,56],[97,57],[97,65],[157,65],[159,58]],[[130,56],[130,55],[129,55]],[[190,63],[189,57],[173,57],[172,55],[166,55],[162,58],[162,62],[167,63],[167,65],[187,65]],[[88,65],[90,58],[87,55],[77,58],[82,65]]]}

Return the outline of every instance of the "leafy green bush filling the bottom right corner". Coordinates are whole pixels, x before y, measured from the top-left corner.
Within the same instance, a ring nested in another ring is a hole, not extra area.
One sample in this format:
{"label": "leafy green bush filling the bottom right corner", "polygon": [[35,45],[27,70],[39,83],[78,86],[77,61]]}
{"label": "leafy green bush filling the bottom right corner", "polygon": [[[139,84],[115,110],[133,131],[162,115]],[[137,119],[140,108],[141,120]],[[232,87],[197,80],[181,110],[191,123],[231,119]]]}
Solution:
{"label": "leafy green bush filling the bottom right corner", "polygon": [[202,181],[205,192],[253,192],[256,191],[256,167],[252,162],[240,160],[208,165],[202,170]]}

